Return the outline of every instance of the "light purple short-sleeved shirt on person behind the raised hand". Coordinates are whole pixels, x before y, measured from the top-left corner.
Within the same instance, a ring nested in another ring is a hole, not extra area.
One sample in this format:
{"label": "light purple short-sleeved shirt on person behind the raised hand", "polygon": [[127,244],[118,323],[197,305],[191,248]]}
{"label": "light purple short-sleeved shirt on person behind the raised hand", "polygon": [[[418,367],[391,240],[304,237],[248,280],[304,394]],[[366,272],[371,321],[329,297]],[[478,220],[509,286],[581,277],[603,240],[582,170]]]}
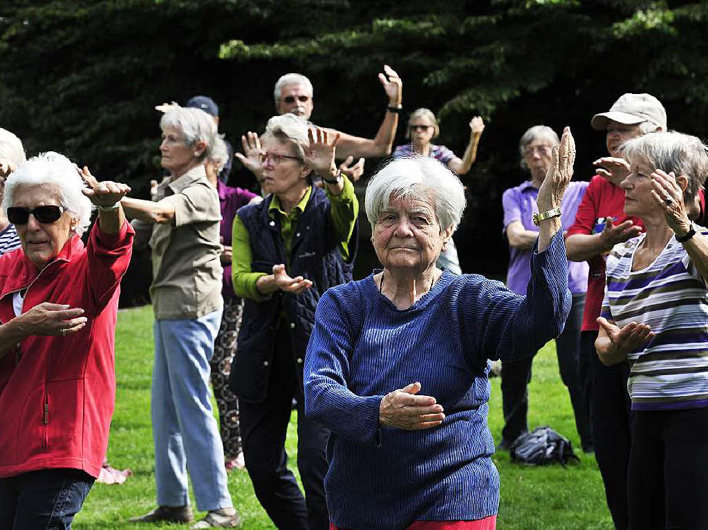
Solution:
{"label": "light purple short-sleeved shirt on person behind the raised hand", "polygon": [[[561,202],[561,224],[567,230],[573,226],[576,210],[580,205],[585,190],[586,182],[571,182],[563,195]],[[504,231],[513,221],[521,221],[524,228],[530,231],[539,231],[533,224],[533,214],[538,212],[536,205],[538,188],[530,180],[509,188],[504,192],[502,204],[504,206]],[[506,286],[516,294],[526,294],[526,286],[531,278],[531,249],[521,250],[509,247],[509,269],[506,275]],[[584,293],[588,290],[588,263],[585,261],[568,262],[568,287],[573,294]]]}

